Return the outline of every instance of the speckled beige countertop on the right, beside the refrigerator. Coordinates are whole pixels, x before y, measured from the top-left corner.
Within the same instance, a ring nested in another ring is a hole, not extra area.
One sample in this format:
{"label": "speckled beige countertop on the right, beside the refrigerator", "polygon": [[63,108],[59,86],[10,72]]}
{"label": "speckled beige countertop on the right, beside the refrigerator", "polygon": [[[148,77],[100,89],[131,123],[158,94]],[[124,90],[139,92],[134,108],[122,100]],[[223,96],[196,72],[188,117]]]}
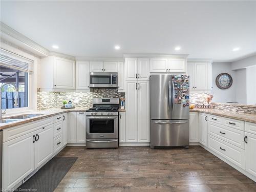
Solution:
{"label": "speckled beige countertop on the right, beside the refrigerator", "polygon": [[248,113],[235,113],[227,110],[216,110],[216,109],[193,109],[190,112],[202,112],[211,115],[219,115],[221,117],[227,117],[231,119],[237,119],[241,121],[248,121],[252,123],[256,123],[256,114],[248,114]]}

